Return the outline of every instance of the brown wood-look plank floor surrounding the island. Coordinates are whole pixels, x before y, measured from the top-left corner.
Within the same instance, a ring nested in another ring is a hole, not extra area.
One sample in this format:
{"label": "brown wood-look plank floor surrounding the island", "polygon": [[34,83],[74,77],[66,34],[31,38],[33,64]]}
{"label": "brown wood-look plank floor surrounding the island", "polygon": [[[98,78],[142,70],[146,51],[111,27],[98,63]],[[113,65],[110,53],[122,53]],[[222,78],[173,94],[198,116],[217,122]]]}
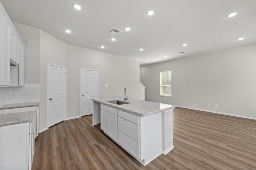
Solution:
{"label": "brown wood-look plank floor surrounding the island", "polygon": [[256,170],[256,120],[176,107],[173,125],[174,149],[143,166],[92,115],[63,121],[38,135],[32,170]]}

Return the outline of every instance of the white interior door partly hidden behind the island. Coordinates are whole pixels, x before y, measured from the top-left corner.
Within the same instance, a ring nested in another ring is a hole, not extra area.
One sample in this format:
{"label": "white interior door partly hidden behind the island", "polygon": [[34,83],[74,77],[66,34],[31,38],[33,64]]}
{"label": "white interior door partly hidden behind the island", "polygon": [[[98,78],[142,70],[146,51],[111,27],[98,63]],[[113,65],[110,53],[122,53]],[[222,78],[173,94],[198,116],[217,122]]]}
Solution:
{"label": "white interior door partly hidden behind the island", "polygon": [[81,70],[81,115],[92,114],[92,98],[98,98],[98,70]]}

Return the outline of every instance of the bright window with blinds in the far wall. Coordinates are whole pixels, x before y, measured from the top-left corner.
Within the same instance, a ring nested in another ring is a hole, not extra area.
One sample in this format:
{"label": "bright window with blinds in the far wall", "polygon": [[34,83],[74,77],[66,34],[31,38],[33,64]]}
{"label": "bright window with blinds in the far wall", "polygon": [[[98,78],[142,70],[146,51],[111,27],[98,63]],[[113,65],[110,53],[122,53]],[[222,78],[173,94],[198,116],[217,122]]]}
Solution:
{"label": "bright window with blinds in the far wall", "polygon": [[172,71],[160,72],[160,95],[172,96]]}

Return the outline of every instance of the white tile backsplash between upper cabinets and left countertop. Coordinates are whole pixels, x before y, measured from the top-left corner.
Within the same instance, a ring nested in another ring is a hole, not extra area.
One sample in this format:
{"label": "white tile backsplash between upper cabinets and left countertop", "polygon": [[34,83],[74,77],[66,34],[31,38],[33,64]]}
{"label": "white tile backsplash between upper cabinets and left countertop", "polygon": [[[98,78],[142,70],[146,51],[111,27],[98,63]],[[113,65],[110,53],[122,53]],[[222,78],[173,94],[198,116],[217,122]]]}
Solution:
{"label": "white tile backsplash between upper cabinets and left countertop", "polygon": [[40,101],[40,84],[0,88],[0,107],[5,104]]}

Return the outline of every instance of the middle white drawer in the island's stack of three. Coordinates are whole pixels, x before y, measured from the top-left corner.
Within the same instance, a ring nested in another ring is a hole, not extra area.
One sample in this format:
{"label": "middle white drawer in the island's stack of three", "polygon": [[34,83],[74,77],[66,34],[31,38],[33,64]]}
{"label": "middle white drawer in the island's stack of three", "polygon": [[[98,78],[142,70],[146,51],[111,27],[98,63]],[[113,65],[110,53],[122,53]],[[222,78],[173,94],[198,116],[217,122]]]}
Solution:
{"label": "middle white drawer in the island's stack of three", "polygon": [[140,127],[122,117],[118,117],[118,130],[128,135],[137,142],[140,142]]}

